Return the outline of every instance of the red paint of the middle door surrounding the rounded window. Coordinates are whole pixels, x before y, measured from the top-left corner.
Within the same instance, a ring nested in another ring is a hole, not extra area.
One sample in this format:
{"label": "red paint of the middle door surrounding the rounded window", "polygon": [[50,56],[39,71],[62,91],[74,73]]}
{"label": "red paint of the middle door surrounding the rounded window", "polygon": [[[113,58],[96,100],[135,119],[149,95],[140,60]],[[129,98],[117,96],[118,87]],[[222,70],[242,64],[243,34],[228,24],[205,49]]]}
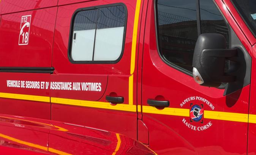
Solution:
{"label": "red paint of the middle door surrounding the rounded window", "polygon": [[[72,1],[80,2],[80,1]],[[122,59],[116,64],[72,64],[68,60],[68,41],[70,35],[70,21],[74,12],[79,8],[98,5],[109,5],[122,2],[128,11],[125,45]],[[59,1],[58,5],[67,1]],[[112,0],[111,2],[85,1],[58,7],[58,14],[54,35],[54,52],[52,65],[55,68],[51,81],[70,82],[99,82],[101,91],[51,91],[51,97],[82,99],[85,101],[107,102],[106,96],[115,93],[124,97],[124,103],[129,102],[129,76],[131,61],[131,42],[133,38],[133,23],[136,2],[125,0]],[[136,77],[136,71],[134,72]],[[136,78],[133,86],[133,104],[136,105]],[[79,107],[61,104],[52,104],[52,119],[67,121],[86,126],[98,127],[137,138],[137,113],[100,108]],[[89,118],[89,119],[88,119]],[[90,119],[93,118],[93,119]],[[127,123],[129,122],[129,123]]]}

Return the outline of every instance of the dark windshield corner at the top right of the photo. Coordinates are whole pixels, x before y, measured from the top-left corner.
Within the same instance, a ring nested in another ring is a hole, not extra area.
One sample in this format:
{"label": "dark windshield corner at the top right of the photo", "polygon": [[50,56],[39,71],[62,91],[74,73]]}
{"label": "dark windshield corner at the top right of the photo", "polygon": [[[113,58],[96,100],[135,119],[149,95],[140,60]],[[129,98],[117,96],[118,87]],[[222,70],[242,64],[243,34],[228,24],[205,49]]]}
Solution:
{"label": "dark windshield corner at the top right of the photo", "polygon": [[256,36],[256,2],[255,0],[231,0],[249,26],[251,32]]}

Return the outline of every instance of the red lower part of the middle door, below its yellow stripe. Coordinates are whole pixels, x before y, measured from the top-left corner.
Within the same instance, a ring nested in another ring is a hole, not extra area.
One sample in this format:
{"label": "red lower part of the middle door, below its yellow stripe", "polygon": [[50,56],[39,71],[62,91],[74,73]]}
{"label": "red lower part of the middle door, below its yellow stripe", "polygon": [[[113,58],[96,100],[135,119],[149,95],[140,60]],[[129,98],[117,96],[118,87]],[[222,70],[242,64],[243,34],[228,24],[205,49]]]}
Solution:
{"label": "red lower part of the middle door, below its yellow stripe", "polygon": [[52,104],[52,119],[126,133],[136,139],[136,113]]}

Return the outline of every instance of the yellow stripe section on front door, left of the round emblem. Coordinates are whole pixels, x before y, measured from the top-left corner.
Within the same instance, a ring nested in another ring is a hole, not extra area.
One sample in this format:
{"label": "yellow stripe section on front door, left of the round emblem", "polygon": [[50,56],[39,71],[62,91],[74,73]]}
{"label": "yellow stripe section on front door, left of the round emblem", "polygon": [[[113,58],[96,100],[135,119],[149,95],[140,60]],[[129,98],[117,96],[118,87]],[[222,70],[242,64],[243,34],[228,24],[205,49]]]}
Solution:
{"label": "yellow stripe section on front door, left of the round emblem", "polygon": [[154,114],[185,116],[185,117],[190,116],[190,110],[183,109],[183,108],[164,108],[162,110],[159,110],[151,106],[142,106],[142,113],[154,113]]}

